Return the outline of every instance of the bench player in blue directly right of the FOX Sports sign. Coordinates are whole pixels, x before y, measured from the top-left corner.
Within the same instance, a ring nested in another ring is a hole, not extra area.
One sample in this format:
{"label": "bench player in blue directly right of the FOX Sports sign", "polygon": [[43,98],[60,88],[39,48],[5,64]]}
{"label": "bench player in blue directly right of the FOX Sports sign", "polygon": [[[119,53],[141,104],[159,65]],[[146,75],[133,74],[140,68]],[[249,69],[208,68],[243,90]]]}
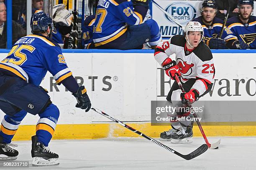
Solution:
{"label": "bench player in blue directly right of the FOX Sports sign", "polygon": [[[223,20],[216,18],[217,4],[214,0],[205,0],[202,3],[201,16],[195,18],[193,21],[200,22],[204,28],[203,41],[210,49],[238,49],[236,44],[240,45],[237,37],[228,28],[224,28],[222,36],[219,38]],[[244,44],[240,48],[247,48]]]}

